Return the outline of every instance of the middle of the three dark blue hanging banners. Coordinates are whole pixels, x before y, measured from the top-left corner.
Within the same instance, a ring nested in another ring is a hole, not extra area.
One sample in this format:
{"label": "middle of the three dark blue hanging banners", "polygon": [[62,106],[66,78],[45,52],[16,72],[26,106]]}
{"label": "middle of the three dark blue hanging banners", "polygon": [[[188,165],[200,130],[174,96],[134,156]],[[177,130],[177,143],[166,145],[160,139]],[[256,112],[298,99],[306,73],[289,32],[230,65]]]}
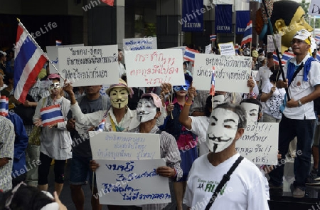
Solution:
{"label": "middle of the three dark blue hanging banners", "polygon": [[232,33],[233,6],[219,4],[215,6],[215,33]]}

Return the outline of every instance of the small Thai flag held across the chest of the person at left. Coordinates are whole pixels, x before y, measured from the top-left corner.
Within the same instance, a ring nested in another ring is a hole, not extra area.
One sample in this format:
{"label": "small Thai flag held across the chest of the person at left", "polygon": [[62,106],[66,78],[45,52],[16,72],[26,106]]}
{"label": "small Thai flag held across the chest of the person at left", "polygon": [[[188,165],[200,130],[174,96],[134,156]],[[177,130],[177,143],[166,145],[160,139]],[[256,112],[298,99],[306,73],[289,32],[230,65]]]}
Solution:
{"label": "small Thai flag held across the chest of the person at left", "polygon": [[60,110],[60,105],[50,105],[40,110],[43,126],[53,125],[57,122],[64,122],[65,118]]}

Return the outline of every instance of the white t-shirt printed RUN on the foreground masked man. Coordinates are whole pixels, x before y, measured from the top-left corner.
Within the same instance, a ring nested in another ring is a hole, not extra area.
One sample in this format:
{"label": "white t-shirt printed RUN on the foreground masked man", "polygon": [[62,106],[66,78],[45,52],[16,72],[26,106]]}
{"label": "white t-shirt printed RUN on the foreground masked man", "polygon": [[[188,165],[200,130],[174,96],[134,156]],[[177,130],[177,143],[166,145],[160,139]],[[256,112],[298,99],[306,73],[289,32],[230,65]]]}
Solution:
{"label": "white t-shirt printed RUN on the foreground masked man", "polygon": [[[210,164],[207,154],[196,159],[189,172],[183,203],[191,209],[206,209],[223,175],[229,171],[239,156],[237,153],[216,167]],[[210,209],[269,209],[267,203],[269,189],[266,189],[265,179],[255,164],[243,159]]]}

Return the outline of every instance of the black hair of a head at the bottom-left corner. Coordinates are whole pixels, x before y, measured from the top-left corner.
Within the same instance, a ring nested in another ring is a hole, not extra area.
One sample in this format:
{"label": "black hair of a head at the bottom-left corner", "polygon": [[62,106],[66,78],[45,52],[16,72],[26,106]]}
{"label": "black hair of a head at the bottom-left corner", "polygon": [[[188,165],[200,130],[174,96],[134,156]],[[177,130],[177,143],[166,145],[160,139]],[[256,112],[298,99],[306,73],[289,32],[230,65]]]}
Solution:
{"label": "black hair of a head at the bottom-left corner", "polygon": [[[5,209],[6,200],[11,194],[11,190],[0,193],[0,210]],[[14,193],[9,207],[12,210],[40,210],[50,203],[53,203],[53,200],[38,188],[21,185]]]}

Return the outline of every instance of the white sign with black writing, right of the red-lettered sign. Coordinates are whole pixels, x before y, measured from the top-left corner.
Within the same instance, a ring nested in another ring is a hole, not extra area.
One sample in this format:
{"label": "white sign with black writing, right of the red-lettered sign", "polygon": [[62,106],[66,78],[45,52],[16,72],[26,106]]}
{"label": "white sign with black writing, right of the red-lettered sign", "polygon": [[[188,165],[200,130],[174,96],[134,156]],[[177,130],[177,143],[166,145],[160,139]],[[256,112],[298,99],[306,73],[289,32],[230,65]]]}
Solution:
{"label": "white sign with black writing, right of the red-lettered sign", "polygon": [[215,91],[249,93],[247,80],[251,74],[251,57],[196,54],[193,85],[210,90],[211,71],[215,68]]}

